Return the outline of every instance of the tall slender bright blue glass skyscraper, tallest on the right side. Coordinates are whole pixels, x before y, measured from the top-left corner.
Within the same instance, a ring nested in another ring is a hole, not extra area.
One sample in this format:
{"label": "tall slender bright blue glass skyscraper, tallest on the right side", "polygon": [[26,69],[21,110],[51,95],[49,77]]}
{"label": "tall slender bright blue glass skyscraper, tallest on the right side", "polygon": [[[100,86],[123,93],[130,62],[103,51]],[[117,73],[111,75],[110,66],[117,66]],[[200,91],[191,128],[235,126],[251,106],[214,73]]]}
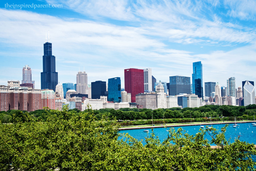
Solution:
{"label": "tall slender bright blue glass skyscraper, tallest on the right side", "polygon": [[198,97],[204,97],[203,95],[203,64],[201,61],[193,62],[193,74],[192,74],[192,90],[193,94]]}

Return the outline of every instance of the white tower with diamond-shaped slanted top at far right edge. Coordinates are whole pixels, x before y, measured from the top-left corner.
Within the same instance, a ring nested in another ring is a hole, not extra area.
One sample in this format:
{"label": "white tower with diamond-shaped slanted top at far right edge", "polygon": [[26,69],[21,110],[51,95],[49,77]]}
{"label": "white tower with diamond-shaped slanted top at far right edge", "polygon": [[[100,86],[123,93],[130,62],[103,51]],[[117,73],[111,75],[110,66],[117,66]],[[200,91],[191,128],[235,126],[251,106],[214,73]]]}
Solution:
{"label": "white tower with diamond-shaped slanted top at far right edge", "polygon": [[255,104],[255,87],[253,81],[242,81],[243,87],[243,100],[242,104],[248,106],[249,104]]}

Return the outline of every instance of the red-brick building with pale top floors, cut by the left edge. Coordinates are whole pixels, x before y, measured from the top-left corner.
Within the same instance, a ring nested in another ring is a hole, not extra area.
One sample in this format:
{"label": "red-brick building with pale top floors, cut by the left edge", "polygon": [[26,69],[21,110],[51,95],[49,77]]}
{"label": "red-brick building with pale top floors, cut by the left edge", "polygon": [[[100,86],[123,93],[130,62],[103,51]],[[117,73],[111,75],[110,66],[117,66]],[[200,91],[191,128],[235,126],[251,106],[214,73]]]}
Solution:
{"label": "red-brick building with pale top floors, cut by the left edge", "polygon": [[0,86],[0,111],[9,110],[9,86]]}

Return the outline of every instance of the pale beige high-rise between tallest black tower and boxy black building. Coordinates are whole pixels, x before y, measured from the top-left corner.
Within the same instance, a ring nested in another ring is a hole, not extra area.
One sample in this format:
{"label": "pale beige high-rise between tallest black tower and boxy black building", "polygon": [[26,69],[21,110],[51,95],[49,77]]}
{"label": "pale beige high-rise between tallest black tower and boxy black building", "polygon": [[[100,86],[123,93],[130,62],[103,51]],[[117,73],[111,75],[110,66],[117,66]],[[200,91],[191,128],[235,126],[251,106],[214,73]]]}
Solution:
{"label": "pale beige high-rise between tallest black tower and boxy black building", "polygon": [[85,94],[85,89],[88,87],[88,81],[87,81],[87,73],[84,72],[78,72],[76,74],[76,91],[80,94]]}

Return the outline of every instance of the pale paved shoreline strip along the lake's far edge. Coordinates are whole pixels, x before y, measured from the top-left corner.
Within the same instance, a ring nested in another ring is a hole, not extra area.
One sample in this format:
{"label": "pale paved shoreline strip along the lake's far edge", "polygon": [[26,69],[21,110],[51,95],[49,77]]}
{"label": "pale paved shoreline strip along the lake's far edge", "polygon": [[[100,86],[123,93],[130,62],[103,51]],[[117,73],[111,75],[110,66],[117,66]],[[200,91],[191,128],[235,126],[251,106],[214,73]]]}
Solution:
{"label": "pale paved shoreline strip along the lake's far edge", "polygon": [[[238,121],[236,123],[252,123],[254,121]],[[219,124],[233,124],[235,122],[213,122],[212,125]],[[133,130],[133,129],[151,129],[151,128],[168,128],[168,127],[181,127],[181,126],[197,126],[197,125],[210,125],[210,123],[194,123],[194,124],[177,124],[177,125],[158,125],[158,126],[142,126],[142,127],[128,127],[128,128],[119,128],[120,131],[124,130]]]}

